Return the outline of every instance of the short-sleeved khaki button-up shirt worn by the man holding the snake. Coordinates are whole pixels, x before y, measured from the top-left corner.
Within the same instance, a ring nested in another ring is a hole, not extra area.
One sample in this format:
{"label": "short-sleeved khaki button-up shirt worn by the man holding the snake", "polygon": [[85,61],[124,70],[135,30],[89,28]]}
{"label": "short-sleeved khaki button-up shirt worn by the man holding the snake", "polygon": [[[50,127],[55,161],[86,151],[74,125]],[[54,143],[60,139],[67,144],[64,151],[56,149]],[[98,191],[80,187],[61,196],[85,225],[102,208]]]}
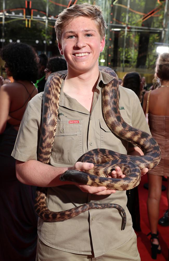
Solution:
{"label": "short-sleeved khaki button-up shirt worn by the man holding the snake", "polygon": [[[56,167],[74,165],[85,152],[105,148],[122,154],[128,142],[114,135],[102,115],[102,82],[112,78],[101,72],[94,92],[91,113],[63,92],[62,81],[58,123],[50,164]],[[130,125],[148,133],[149,128],[138,97],[129,89],[119,87],[119,107],[123,119]],[[42,93],[37,94],[27,106],[18,132],[12,156],[19,161],[37,160],[37,146],[41,128]],[[125,244],[133,235],[131,215],[126,207],[126,191],[111,195],[94,195],[82,192],[74,185],[48,188],[47,207],[62,211],[84,203],[116,203],[126,211],[127,223],[121,230],[122,218],[117,209],[92,209],[63,222],[45,222],[38,219],[38,236],[44,244],[58,250],[101,256]]]}

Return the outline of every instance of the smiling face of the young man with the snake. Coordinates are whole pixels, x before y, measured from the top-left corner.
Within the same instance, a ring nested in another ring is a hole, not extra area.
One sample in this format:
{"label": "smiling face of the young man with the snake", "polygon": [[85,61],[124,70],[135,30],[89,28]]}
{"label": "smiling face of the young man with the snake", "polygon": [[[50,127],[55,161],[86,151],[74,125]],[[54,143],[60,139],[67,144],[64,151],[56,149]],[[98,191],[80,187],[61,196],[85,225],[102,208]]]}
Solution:
{"label": "smiling face of the young man with the snake", "polygon": [[71,20],[62,32],[60,53],[64,55],[68,72],[85,73],[98,70],[98,58],[105,46],[93,20],[79,16]]}

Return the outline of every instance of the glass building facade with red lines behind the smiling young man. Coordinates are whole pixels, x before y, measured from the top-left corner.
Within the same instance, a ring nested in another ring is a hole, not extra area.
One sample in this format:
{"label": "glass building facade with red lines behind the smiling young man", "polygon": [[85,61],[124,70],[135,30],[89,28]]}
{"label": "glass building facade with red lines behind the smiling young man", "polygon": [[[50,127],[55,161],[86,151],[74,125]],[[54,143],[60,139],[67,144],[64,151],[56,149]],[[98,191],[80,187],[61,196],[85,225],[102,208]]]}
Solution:
{"label": "glass building facade with red lines behind the smiling young man", "polygon": [[83,2],[99,5],[108,26],[99,64],[113,68],[119,78],[137,71],[151,82],[157,47],[169,47],[168,0],[1,0],[0,47],[18,41],[32,45],[37,54],[59,55],[57,15]]}

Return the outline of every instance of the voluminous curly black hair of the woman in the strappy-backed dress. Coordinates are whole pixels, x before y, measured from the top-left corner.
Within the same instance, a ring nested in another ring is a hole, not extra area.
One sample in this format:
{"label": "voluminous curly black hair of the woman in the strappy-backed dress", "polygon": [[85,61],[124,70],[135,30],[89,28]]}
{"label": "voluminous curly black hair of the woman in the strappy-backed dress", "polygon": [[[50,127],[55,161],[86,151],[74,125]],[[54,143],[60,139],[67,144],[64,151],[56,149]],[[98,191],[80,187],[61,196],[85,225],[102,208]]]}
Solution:
{"label": "voluminous curly black hair of the woman in the strappy-backed dress", "polygon": [[0,56],[14,80],[36,82],[38,56],[33,47],[23,43],[11,43],[0,50]]}

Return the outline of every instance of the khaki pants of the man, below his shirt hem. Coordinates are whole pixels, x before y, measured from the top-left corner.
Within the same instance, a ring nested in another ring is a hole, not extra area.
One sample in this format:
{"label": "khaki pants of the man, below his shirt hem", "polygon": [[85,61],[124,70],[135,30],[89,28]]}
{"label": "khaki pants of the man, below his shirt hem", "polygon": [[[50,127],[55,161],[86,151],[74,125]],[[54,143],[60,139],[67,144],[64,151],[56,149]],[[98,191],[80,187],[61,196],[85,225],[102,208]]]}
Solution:
{"label": "khaki pants of the man, below his shirt hem", "polygon": [[85,256],[57,250],[37,240],[36,261],[140,261],[136,234],[123,246],[100,257]]}

